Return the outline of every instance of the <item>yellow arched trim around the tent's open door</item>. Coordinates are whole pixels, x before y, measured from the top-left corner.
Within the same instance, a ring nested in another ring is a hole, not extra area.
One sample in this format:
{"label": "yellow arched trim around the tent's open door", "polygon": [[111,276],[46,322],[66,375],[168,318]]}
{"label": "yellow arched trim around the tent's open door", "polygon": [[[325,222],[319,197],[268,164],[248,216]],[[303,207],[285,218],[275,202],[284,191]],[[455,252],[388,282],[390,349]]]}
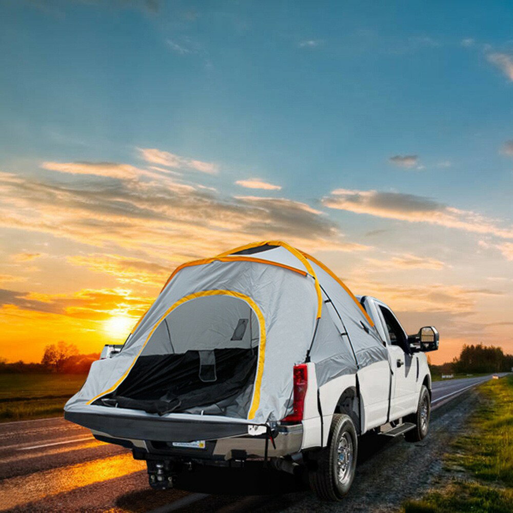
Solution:
{"label": "yellow arched trim around the tent's open door", "polygon": [[98,399],[102,396],[105,396],[105,394],[107,394],[107,393],[114,391],[119,385],[121,385],[121,383],[124,381],[124,379],[128,376],[128,373],[130,372],[132,367],[135,365],[135,362],[137,361],[137,359],[141,356],[141,353],[143,352],[143,349],[146,346],[146,344],[148,343],[148,341],[150,340],[153,332],[157,329],[157,327],[159,327],[160,323],[167,317],[167,315],[169,313],[171,313],[175,308],[179,307],[180,305],[183,305],[187,301],[190,301],[195,298],[202,298],[202,297],[211,296],[211,295],[231,295],[234,298],[242,299],[243,301],[246,301],[246,303],[248,303],[251,306],[251,308],[253,309],[253,311],[257,314],[257,318],[258,318],[259,325],[260,325],[260,344],[259,344],[259,358],[258,358],[258,363],[257,363],[257,378],[255,379],[255,385],[254,385],[254,389],[253,389],[253,399],[251,401],[251,406],[249,408],[249,413],[248,413],[248,419],[251,420],[255,416],[255,413],[257,412],[258,407],[260,405],[260,387],[262,385],[262,375],[264,373],[264,362],[265,362],[265,319],[264,319],[262,311],[258,307],[257,303],[255,303],[246,294],[241,294],[240,292],[235,292],[234,290],[203,290],[201,292],[195,292],[193,294],[186,295],[182,299],[179,299],[178,301],[173,303],[173,305],[171,305],[166,310],[164,315],[162,315],[162,317],[159,319],[159,321],[156,322],[155,326],[153,326],[152,330],[148,334],[148,337],[144,341],[144,344],[141,347],[141,350],[139,351],[139,353],[137,353],[137,356],[134,358],[133,362],[130,364],[130,367],[128,367],[128,369],[123,373],[123,376],[119,380],[117,380],[111,387],[107,388],[107,390],[105,390],[102,393],[99,393],[97,396],[93,397],[90,401],[87,402],[87,404],[93,403],[94,401],[96,401],[96,399]]}

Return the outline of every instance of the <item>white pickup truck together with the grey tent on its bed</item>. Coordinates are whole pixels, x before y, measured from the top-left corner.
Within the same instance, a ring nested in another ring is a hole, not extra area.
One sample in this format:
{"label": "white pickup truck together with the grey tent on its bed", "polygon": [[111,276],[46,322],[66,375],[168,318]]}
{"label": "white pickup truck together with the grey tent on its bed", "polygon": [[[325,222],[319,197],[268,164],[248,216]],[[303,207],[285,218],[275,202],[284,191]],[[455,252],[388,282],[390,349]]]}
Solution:
{"label": "white pickup truck together with the grey tent on its bed", "polygon": [[65,418],[130,448],[154,488],[211,491],[222,469],[263,467],[338,501],[361,435],[427,435],[424,353],[438,344],[434,327],[407,336],[386,304],[310,255],[252,243],[177,268]]}

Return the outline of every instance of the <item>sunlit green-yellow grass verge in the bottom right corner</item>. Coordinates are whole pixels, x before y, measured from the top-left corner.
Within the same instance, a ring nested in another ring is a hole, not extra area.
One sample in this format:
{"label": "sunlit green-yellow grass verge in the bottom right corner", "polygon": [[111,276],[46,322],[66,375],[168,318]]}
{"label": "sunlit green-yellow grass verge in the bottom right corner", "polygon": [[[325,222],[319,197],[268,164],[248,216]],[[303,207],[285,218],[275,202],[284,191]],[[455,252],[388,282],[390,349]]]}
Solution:
{"label": "sunlit green-yellow grass verge in the bottom right corner", "polygon": [[405,502],[405,513],[513,511],[513,375],[490,380],[478,390],[469,430],[444,460],[453,477],[421,500]]}

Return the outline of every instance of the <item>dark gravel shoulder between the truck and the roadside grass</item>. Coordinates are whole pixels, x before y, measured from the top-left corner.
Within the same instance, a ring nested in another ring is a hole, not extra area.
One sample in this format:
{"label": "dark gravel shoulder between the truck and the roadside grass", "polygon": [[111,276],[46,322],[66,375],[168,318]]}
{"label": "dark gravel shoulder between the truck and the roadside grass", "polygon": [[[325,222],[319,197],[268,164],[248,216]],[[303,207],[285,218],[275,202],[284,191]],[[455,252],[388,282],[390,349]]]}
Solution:
{"label": "dark gravel shoulder between the truck and the roadside grass", "polygon": [[420,498],[443,475],[443,456],[453,439],[466,429],[466,419],[475,408],[478,393],[464,392],[431,412],[426,439],[408,443],[403,437],[365,435],[360,439],[356,477],[340,503],[319,501],[310,491],[276,497],[209,496],[189,507],[193,511],[257,511],[303,513],[310,511],[397,512],[407,499]]}

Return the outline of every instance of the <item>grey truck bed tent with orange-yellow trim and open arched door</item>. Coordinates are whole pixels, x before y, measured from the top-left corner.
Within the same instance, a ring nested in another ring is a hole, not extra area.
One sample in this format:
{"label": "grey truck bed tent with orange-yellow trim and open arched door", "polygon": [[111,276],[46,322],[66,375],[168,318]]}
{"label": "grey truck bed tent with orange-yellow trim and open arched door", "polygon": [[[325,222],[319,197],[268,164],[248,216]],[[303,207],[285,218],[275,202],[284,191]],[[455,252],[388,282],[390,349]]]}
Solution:
{"label": "grey truck bed tent with orange-yellow trim and open arched door", "polygon": [[119,354],[94,362],[67,412],[286,417],[294,365],[318,385],[387,360],[376,328],[322,263],[281,241],[175,269]]}

